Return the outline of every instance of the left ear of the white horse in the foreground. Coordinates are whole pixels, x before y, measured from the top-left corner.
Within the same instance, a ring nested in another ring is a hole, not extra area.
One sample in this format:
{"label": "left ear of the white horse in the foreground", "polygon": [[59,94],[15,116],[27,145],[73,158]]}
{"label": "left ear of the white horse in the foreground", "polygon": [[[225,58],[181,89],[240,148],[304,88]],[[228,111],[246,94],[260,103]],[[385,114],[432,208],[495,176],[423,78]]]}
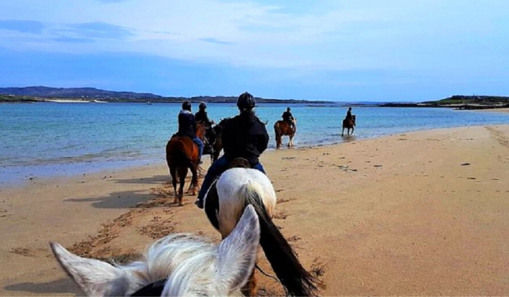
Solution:
{"label": "left ear of the white horse in the foreground", "polygon": [[121,269],[100,260],[72,254],[56,242],[49,244],[62,268],[87,295],[125,295],[129,284]]}

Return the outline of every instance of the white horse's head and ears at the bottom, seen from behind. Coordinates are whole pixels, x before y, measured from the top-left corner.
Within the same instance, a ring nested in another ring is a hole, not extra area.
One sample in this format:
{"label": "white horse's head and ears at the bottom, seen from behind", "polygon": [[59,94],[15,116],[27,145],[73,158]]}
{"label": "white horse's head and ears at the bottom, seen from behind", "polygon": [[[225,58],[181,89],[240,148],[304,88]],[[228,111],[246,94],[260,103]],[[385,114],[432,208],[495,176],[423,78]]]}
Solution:
{"label": "white horse's head and ears at the bottom, seen from behind", "polygon": [[173,234],[127,265],[83,258],[56,242],[50,247],[63,270],[89,296],[239,296],[254,268],[259,242],[259,219],[253,206],[247,206],[219,244]]}

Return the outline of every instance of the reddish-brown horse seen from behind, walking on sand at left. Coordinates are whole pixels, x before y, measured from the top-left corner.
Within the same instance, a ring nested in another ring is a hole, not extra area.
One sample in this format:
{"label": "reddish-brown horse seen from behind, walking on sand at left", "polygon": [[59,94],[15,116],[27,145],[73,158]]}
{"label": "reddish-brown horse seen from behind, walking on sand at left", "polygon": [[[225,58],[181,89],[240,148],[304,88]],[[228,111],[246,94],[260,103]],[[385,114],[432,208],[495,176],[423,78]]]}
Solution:
{"label": "reddish-brown horse seen from behind, walking on sand at left", "polygon": [[[196,126],[196,136],[202,141],[205,135],[205,125]],[[198,175],[201,171],[199,166],[198,146],[189,137],[175,136],[168,140],[166,144],[166,163],[168,164],[169,174],[172,176],[173,190],[175,191],[175,201],[179,206],[183,206],[182,197],[184,195],[184,184],[187,177],[187,170],[191,170],[191,184],[188,192],[191,191],[196,195],[196,187],[198,186]],[[177,191],[177,182],[180,182]]]}

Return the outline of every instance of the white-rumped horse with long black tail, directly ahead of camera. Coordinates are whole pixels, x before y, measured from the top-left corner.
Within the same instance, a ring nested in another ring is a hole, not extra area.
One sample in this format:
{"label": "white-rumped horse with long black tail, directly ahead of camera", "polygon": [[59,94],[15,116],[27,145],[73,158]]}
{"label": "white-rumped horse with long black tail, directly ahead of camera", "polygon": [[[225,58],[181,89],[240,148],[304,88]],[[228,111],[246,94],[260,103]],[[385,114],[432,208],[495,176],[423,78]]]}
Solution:
{"label": "white-rumped horse with long black tail, directly ahead of camera", "polygon": [[[243,162],[243,168],[228,169],[208,189],[204,201],[207,217],[222,238],[227,238],[246,206],[253,206],[260,220],[260,245],[282,286],[292,296],[314,295],[318,280],[302,267],[295,251],[272,221],[276,194],[271,181],[262,172],[248,168],[247,160]],[[242,292],[254,295],[255,287],[253,270]]]}

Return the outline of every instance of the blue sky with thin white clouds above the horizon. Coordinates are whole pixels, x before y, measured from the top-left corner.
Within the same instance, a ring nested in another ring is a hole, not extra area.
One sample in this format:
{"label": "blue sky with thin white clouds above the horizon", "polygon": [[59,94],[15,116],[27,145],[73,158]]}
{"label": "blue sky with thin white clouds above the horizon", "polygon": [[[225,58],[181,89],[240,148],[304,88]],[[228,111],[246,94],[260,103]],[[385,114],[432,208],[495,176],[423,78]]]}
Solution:
{"label": "blue sky with thin white clouds above the horizon", "polygon": [[505,0],[0,2],[0,87],[330,101],[509,95]]}

